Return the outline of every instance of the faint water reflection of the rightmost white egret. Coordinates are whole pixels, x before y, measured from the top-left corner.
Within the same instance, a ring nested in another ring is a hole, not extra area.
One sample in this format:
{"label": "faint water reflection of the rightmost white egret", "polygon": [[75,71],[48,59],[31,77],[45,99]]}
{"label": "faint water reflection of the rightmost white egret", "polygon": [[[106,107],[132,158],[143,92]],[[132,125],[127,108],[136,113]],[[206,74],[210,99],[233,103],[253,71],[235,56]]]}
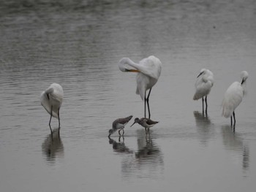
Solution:
{"label": "faint water reflection of the rightmost white egret", "polygon": [[222,126],[223,145],[227,151],[241,155],[242,168],[249,169],[249,147],[230,126]]}

